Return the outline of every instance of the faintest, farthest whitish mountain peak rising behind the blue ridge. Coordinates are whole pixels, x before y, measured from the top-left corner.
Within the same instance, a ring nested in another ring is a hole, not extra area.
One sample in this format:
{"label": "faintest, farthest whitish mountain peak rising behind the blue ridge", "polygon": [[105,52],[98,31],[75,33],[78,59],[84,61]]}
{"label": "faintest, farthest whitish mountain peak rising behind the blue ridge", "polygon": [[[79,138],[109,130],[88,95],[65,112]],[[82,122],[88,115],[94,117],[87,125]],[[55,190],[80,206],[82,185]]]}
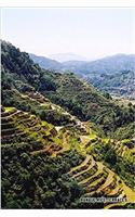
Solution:
{"label": "faintest, farthest whitish mountain peak rising behind the blue ridge", "polygon": [[76,60],[76,61],[86,60],[85,58],[75,54],[75,53],[57,53],[57,54],[50,55],[50,58],[60,63],[66,62],[66,61],[72,61],[72,60]]}

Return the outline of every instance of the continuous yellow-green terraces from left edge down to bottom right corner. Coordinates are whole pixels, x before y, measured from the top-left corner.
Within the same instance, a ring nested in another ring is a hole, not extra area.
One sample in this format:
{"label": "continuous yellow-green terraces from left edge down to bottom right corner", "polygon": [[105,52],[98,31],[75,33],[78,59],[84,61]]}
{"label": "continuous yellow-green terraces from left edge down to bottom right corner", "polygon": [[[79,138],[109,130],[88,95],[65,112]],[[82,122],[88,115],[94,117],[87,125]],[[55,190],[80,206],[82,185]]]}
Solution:
{"label": "continuous yellow-green terraces from left edge down to bottom right corner", "polygon": [[[42,102],[40,103],[42,104]],[[86,128],[86,124],[82,123],[82,125]],[[65,153],[75,150],[77,153],[83,154],[81,156],[82,161],[79,161],[80,164],[76,164],[73,167],[70,165],[70,170],[67,169],[66,174],[69,180],[76,181],[83,189],[82,197],[105,196],[119,199],[118,203],[105,203],[105,208],[124,207],[126,204],[134,202],[135,193],[120,177],[110,170],[104,162],[95,161],[92,154],[87,154],[87,143],[99,141],[97,136],[91,135],[91,130],[84,133],[80,129],[79,138],[68,126],[57,129],[52,124],[42,122],[36,115],[18,111],[15,107],[2,107],[1,127],[2,153],[5,153],[12,146],[13,150],[17,146],[19,149],[25,148],[25,151],[27,150],[31,157],[48,155],[58,161],[59,156],[63,158]],[[76,125],[72,127],[76,128]],[[121,202],[121,200],[123,201]],[[79,203],[79,206],[83,205]]]}

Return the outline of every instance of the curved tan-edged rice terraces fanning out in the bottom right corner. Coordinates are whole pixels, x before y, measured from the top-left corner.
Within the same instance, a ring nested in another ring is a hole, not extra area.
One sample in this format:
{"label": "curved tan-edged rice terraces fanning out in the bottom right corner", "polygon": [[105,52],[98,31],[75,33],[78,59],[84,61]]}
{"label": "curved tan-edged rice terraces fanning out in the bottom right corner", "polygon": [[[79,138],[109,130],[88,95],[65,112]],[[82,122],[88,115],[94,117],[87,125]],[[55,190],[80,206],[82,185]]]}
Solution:
{"label": "curved tan-edged rice terraces fanning out in the bottom right corner", "polygon": [[83,163],[69,171],[69,176],[86,189],[84,197],[118,197],[121,202],[105,203],[105,208],[123,206],[127,202],[134,203],[135,201],[135,193],[126,187],[120,177],[107,168],[103,162],[96,162],[92,155],[86,155]]}

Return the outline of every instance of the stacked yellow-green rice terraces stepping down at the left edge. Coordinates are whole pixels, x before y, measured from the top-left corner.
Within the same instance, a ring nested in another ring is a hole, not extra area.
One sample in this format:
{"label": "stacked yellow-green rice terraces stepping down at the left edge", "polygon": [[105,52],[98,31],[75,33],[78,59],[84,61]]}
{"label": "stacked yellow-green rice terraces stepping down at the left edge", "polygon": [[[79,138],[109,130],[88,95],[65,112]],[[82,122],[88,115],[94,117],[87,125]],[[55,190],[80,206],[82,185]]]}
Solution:
{"label": "stacked yellow-green rice terraces stepping down at the left edge", "polygon": [[1,135],[2,146],[14,143],[22,143],[28,140],[35,140],[41,142],[41,145],[45,145],[43,138],[50,138],[53,130],[54,135],[56,130],[54,126],[41,122],[36,115],[31,115],[27,112],[16,110],[14,107],[2,107],[1,113]]}

